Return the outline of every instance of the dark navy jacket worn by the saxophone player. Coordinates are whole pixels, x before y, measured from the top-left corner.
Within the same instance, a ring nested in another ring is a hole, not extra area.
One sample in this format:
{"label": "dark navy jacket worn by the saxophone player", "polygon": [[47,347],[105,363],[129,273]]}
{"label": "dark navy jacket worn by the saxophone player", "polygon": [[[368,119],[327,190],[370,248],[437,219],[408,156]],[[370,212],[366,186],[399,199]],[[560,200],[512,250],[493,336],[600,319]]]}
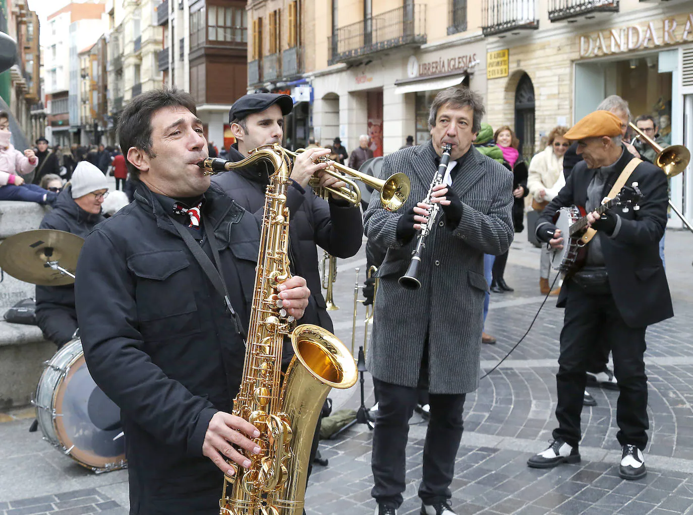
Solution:
{"label": "dark navy jacket worn by the saxophone player", "polygon": [[[202,212],[247,329],[258,221],[213,185]],[[173,223],[139,183],[134,202],[87,237],[78,264],[80,337],[94,381],[121,408],[131,514],[218,512],[222,473],[202,443],[243,374],[243,340]],[[207,237],[202,249],[211,253]]]}

